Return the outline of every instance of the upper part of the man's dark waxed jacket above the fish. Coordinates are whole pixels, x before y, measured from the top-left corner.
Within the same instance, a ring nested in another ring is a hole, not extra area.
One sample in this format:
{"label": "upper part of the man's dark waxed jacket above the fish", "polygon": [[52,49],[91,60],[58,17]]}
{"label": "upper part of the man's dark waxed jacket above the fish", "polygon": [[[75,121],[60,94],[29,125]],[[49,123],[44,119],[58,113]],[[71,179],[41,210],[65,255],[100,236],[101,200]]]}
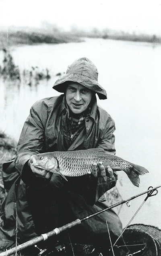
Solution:
{"label": "upper part of the man's dark waxed jacket above the fish", "polygon": [[[68,136],[67,115],[64,95],[42,99],[32,106],[17,147],[15,166],[20,174],[33,154],[67,150],[64,147]],[[102,148],[115,153],[114,131],[113,119],[97,106],[94,98],[91,114],[85,119],[85,128],[76,140],[71,141],[68,150]]]}

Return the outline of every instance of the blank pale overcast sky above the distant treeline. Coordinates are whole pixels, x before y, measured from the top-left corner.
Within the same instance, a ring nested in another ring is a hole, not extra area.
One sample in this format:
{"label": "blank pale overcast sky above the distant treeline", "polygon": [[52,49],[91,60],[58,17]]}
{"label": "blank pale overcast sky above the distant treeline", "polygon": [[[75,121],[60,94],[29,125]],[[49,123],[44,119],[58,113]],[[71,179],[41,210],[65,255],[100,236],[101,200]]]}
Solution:
{"label": "blank pale overcast sky above the distant treeline", "polygon": [[65,30],[77,25],[161,35],[161,0],[0,0],[0,25],[39,27],[42,21]]}

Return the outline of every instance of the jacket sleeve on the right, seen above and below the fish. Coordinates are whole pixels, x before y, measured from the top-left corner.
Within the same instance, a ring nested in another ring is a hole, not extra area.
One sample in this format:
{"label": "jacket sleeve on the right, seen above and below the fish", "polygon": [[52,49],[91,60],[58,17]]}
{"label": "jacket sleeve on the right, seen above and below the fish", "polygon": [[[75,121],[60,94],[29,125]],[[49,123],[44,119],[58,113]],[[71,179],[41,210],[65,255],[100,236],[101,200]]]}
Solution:
{"label": "jacket sleeve on the right, seen above and below the fish", "polygon": [[[96,148],[101,148],[112,154],[116,153],[115,150],[115,123],[114,120],[109,116],[105,123],[105,128],[101,138],[98,141]],[[114,172],[112,179],[107,176],[104,178],[87,178],[87,183],[84,188],[83,198],[88,205],[94,205],[105,192],[116,185],[118,175]]]}

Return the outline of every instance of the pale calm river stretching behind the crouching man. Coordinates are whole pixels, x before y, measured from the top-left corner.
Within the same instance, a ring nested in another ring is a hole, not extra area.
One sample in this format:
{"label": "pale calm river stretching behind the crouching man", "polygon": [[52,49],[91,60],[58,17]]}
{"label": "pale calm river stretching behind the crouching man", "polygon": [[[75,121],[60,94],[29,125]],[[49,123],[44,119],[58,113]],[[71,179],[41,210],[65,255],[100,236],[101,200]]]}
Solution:
{"label": "pale calm river stretching behind the crouching man", "polygon": [[[59,95],[52,86],[59,72],[79,57],[88,57],[99,72],[99,83],[107,91],[101,105],[116,122],[117,155],[149,170],[140,177],[140,187],[132,185],[125,173],[118,173],[118,189],[123,199],[161,184],[161,46],[146,42],[88,39],[81,43],[41,44],[15,47],[14,63],[21,72],[37,66],[49,69],[50,80],[38,85],[4,82],[0,78],[0,129],[18,140],[31,105],[38,99]],[[2,62],[2,52],[0,52]],[[161,188],[142,206],[132,223],[161,228]],[[124,205],[123,226],[136,212],[146,195]]]}

